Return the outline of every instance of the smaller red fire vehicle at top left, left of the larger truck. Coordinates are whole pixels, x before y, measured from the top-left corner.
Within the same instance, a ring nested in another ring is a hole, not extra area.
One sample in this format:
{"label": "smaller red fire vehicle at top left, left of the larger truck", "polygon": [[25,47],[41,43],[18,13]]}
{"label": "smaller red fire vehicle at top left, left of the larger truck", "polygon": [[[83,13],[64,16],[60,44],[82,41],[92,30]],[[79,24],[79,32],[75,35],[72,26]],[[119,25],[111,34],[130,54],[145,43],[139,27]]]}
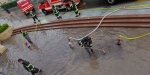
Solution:
{"label": "smaller red fire vehicle at top left, left of the larger truck", "polygon": [[33,10],[33,11],[35,10],[30,0],[18,0],[17,4],[25,15],[27,15],[30,10]]}

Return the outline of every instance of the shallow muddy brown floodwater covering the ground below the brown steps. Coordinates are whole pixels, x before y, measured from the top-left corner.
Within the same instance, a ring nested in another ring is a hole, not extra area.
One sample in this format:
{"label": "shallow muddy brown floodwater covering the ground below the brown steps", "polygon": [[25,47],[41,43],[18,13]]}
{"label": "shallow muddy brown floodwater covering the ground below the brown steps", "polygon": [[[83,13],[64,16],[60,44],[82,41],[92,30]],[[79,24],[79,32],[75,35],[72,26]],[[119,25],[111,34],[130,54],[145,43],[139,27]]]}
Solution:
{"label": "shallow muddy brown floodwater covering the ground below the brown steps", "polygon": [[92,57],[74,41],[74,49],[68,45],[67,37],[81,38],[94,28],[51,29],[38,31],[30,36],[34,45],[28,49],[20,34],[2,42],[8,48],[0,56],[0,74],[31,75],[17,60],[26,59],[41,68],[37,75],[149,75],[150,35],[134,41],[122,39],[118,46],[118,35],[135,37],[150,32],[149,28],[105,28],[91,34],[93,48],[104,49],[104,55],[94,50]]}

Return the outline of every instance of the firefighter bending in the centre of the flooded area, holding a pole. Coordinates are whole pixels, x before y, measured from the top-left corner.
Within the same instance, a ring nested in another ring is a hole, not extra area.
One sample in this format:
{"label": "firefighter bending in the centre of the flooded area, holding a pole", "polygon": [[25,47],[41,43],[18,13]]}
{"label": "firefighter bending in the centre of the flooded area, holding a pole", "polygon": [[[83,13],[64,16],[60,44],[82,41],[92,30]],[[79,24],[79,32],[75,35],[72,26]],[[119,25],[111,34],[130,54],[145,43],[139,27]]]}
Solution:
{"label": "firefighter bending in the centre of the flooded area, holding a pole", "polygon": [[[89,53],[89,55],[91,54],[91,52],[93,53],[93,49],[91,49],[92,47],[92,40],[90,36],[84,37],[83,39],[81,39],[79,41],[79,45],[83,48],[85,48],[85,50]],[[91,50],[91,52],[90,52]]]}

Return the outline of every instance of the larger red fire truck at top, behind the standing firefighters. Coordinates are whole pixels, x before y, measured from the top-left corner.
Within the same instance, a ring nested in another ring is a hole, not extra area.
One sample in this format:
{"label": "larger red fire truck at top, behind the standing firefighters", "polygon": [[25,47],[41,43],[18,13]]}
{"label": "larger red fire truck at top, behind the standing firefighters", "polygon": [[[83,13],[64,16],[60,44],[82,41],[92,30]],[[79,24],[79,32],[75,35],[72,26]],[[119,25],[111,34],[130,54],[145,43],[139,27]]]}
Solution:
{"label": "larger red fire truck at top, behind the standing firefighters", "polygon": [[[76,5],[80,3],[80,0],[73,1]],[[58,9],[71,10],[69,6],[70,3],[71,0],[41,0],[41,4],[38,6],[38,9],[47,15],[49,12],[52,12],[52,5],[58,6]]]}

